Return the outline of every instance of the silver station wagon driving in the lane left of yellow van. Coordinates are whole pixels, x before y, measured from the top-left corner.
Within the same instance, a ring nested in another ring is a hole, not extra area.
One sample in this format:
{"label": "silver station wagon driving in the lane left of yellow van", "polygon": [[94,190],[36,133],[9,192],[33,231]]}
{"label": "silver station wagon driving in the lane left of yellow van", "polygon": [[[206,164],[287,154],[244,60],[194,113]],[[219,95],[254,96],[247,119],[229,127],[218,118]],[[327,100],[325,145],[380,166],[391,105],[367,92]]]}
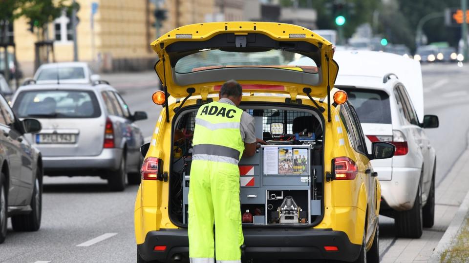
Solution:
{"label": "silver station wagon driving in the lane left of yellow van", "polygon": [[43,129],[30,138],[49,176],[100,176],[113,191],[140,183],[144,143],[122,96],[106,81],[93,84],[30,84],[12,99],[19,118],[34,117]]}

